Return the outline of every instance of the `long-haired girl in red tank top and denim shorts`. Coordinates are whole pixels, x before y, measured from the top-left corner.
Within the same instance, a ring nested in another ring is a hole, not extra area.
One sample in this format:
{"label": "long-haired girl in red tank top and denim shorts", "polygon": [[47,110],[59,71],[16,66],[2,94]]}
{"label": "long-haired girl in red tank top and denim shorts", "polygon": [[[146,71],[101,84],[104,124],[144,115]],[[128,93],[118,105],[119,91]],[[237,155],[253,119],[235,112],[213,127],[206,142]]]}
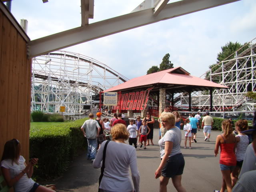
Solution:
{"label": "long-haired girl in red tank top and denim shorts", "polygon": [[[218,135],[214,153],[217,156],[220,147],[220,170],[222,172],[222,187],[220,192],[226,189],[228,192],[232,191],[231,172],[236,166],[236,138],[232,134],[233,129],[229,120],[222,121],[223,134]],[[218,192],[218,190],[215,190]]]}

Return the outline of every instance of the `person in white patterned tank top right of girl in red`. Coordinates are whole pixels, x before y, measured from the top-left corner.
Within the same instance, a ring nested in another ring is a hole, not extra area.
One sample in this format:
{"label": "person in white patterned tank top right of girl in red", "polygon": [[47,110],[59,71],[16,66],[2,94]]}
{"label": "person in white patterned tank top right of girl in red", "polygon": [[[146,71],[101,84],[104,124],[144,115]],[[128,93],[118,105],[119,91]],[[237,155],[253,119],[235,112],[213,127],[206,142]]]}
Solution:
{"label": "person in white patterned tank top right of girl in red", "polygon": [[236,167],[231,173],[232,186],[234,186],[238,180],[238,172],[240,172],[242,168],[244,155],[249,144],[248,136],[244,133],[241,133],[248,130],[247,120],[238,120],[236,122],[235,129],[236,132],[238,132],[238,135],[236,136]]}

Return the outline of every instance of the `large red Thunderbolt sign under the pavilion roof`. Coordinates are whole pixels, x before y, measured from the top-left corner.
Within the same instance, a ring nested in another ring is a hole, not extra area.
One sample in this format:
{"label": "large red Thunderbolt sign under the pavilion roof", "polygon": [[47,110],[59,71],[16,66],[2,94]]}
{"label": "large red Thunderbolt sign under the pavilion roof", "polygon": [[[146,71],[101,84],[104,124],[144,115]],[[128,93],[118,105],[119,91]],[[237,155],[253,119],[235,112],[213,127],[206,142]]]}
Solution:
{"label": "large red Thunderbolt sign under the pavilion roof", "polygon": [[144,110],[147,106],[148,95],[152,88],[140,92],[118,94],[117,106],[114,106],[114,110]]}

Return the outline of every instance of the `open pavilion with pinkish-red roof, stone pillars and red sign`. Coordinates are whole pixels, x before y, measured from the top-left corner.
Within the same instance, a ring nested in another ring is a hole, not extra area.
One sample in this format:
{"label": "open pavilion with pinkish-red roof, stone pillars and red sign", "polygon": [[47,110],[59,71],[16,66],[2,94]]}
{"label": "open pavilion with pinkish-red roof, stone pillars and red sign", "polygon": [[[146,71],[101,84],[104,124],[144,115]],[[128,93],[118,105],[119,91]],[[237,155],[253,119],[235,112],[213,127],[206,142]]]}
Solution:
{"label": "open pavilion with pinkish-red roof, stone pillars and red sign", "polygon": [[[175,67],[133,78],[104,92],[119,92],[118,105],[121,105],[120,109],[128,110],[128,116],[132,116],[132,110],[135,109],[140,109],[143,113],[145,109],[143,104],[146,106],[149,92],[150,94],[154,93],[158,95],[158,110],[160,114],[166,105],[166,93],[172,96],[173,108],[174,94],[187,92],[189,94],[189,111],[191,111],[191,92],[209,90],[210,112],[212,112],[212,91],[225,88],[227,89],[228,87],[192,76],[182,67]],[[146,92],[148,93],[147,95]],[[135,100],[136,103],[137,100],[141,100],[137,108],[134,104],[134,107],[132,107],[131,104]],[[117,107],[116,109],[118,110],[119,108]]]}

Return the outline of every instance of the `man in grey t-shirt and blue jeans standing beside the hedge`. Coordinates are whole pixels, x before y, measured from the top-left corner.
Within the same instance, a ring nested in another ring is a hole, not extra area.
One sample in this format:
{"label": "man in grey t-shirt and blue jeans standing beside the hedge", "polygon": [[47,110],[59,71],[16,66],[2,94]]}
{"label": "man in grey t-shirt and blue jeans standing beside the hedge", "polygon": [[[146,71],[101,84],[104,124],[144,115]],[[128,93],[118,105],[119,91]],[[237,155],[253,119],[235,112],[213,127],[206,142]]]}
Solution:
{"label": "man in grey t-shirt and blue jeans standing beside the hedge", "polygon": [[84,122],[81,127],[81,130],[84,136],[87,138],[88,150],[87,150],[87,159],[92,162],[96,158],[97,150],[97,136],[100,134],[100,126],[96,120],[93,119],[93,114],[89,114],[88,120]]}

